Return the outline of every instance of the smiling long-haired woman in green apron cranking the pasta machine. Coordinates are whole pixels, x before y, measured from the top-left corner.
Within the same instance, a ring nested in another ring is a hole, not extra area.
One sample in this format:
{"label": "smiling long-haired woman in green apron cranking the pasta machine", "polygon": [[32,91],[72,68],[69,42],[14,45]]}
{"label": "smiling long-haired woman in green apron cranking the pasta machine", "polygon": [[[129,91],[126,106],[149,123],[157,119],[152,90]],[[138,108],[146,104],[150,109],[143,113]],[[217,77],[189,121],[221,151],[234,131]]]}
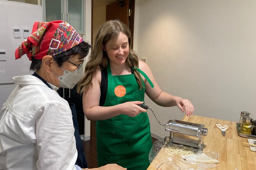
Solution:
{"label": "smiling long-haired woman in green apron cranking the pasta machine", "polygon": [[88,120],[97,120],[99,166],[116,163],[128,170],[145,170],[152,147],[145,93],[156,104],[178,106],[188,116],[194,107],[188,99],[172,96],[158,86],[150,67],[130,48],[129,29],[117,20],[99,29],[85,77],[78,83]]}

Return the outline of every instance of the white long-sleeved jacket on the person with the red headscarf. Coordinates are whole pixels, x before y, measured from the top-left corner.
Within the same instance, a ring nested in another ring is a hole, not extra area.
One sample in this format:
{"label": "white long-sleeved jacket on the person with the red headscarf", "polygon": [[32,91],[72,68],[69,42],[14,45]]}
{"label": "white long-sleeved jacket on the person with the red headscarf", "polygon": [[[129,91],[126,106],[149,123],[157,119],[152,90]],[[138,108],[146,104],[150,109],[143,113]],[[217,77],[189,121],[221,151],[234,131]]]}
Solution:
{"label": "white long-sleeved jacket on the person with the red headscarf", "polygon": [[72,113],[58,88],[33,75],[13,80],[17,86],[0,112],[0,164],[6,170],[77,169]]}

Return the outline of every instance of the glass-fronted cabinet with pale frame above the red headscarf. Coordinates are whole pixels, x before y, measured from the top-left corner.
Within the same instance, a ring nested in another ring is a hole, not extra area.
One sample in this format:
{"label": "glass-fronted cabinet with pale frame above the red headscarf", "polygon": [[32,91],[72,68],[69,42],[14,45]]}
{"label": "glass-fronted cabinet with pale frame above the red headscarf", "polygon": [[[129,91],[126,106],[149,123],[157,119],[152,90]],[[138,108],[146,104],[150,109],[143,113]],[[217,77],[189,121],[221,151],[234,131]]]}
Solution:
{"label": "glass-fronted cabinet with pale frame above the red headscarf", "polygon": [[84,34],[85,0],[42,0],[43,21],[67,21],[77,32]]}

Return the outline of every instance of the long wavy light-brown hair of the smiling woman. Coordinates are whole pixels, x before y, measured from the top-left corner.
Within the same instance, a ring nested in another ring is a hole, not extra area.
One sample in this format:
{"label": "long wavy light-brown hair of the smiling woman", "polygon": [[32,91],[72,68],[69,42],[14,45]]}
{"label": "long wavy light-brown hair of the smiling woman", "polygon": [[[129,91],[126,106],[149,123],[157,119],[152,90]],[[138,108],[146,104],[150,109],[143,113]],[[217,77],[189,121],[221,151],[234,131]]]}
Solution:
{"label": "long wavy light-brown hair of the smiling woman", "polygon": [[[139,67],[139,59],[137,54],[131,49],[132,37],[130,30],[119,20],[110,20],[106,21],[100,28],[95,37],[93,43],[93,48],[91,51],[91,56],[88,59],[88,62],[85,66],[85,77],[78,82],[77,92],[82,94],[86,92],[90,87],[92,87],[92,77],[95,74],[96,69],[104,69],[108,66],[108,55],[106,51],[103,50],[103,47],[109,41],[115,40],[118,35],[122,32],[126,34],[129,42],[129,55],[126,60],[128,66],[130,67]],[[140,87],[142,88],[142,80],[139,72],[134,69],[135,79]]]}

